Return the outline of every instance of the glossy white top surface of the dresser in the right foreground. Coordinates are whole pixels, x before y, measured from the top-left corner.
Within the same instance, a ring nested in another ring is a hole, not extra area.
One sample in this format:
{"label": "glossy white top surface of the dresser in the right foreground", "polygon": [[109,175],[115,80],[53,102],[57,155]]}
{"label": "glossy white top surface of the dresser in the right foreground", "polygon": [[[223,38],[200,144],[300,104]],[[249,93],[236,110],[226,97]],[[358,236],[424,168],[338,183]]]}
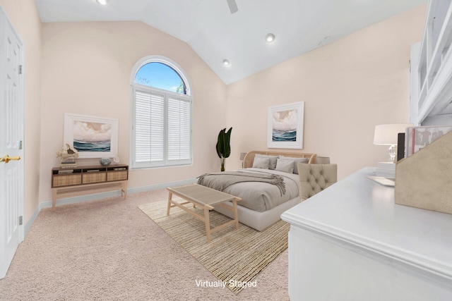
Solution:
{"label": "glossy white top surface of the dresser in the right foreground", "polygon": [[281,218],[451,281],[452,214],[395,204],[394,188],[367,176],[376,176],[375,168],[353,173]]}

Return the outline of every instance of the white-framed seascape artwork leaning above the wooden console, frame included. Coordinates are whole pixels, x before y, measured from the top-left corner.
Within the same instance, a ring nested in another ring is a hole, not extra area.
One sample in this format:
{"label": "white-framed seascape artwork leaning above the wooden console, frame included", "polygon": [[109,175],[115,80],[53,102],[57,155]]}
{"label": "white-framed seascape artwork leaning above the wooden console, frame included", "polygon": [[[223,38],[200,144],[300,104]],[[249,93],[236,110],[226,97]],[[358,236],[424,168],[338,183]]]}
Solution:
{"label": "white-framed seascape artwork leaning above the wooden console, frame included", "polygon": [[64,113],[64,145],[78,158],[110,158],[118,153],[118,119]]}

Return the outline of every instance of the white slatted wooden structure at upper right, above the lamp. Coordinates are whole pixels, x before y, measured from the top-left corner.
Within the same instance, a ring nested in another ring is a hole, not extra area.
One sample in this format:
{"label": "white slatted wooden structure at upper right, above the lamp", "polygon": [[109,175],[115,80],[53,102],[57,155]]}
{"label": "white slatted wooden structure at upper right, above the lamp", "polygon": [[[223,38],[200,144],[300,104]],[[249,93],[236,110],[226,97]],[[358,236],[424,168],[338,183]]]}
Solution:
{"label": "white slatted wooden structure at upper right, above the lamp", "polygon": [[413,45],[410,122],[452,125],[452,0],[430,0],[422,42]]}

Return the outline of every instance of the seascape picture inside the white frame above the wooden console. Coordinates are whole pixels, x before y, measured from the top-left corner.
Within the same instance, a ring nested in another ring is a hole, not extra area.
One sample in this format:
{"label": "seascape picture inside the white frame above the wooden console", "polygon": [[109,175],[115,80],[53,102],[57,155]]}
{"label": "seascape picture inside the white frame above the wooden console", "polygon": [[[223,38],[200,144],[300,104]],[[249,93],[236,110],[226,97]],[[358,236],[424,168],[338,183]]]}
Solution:
{"label": "seascape picture inside the white frame above the wooden console", "polygon": [[73,147],[78,152],[110,152],[112,143],[112,125],[74,121]]}

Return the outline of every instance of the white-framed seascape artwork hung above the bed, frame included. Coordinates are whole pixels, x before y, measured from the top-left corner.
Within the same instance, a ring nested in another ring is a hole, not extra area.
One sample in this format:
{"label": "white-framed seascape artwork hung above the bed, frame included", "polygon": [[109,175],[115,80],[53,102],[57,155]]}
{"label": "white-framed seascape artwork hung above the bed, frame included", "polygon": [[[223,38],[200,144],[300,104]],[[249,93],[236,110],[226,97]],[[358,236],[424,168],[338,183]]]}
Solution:
{"label": "white-framed seascape artwork hung above the bed, frame included", "polygon": [[304,102],[268,108],[268,148],[303,148]]}

